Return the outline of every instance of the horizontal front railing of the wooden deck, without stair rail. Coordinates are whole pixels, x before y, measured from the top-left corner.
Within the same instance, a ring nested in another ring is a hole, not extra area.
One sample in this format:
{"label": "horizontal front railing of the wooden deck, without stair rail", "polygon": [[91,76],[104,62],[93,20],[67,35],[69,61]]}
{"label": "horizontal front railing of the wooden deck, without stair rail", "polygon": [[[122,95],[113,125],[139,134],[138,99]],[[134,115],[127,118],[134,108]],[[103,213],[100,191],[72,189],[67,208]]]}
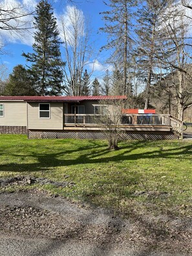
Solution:
{"label": "horizontal front railing of the wooden deck, without stair rail", "polygon": [[[106,116],[101,114],[65,114],[64,125],[103,125]],[[116,125],[114,116],[107,116]],[[169,114],[123,114],[118,125],[170,125]]]}

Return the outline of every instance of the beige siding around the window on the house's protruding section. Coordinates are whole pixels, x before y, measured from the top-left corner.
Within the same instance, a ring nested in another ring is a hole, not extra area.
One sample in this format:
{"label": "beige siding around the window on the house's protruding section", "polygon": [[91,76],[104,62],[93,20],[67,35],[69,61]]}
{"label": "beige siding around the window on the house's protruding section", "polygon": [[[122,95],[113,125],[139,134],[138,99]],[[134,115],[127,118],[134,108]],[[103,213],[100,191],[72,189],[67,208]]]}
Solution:
{"label": "beige siding around the window on the house's protruding section", "polygon": [[39,103],[28,103],[28,129],[63,129],[63,103],[50,103],[50,118],[39,118]]}

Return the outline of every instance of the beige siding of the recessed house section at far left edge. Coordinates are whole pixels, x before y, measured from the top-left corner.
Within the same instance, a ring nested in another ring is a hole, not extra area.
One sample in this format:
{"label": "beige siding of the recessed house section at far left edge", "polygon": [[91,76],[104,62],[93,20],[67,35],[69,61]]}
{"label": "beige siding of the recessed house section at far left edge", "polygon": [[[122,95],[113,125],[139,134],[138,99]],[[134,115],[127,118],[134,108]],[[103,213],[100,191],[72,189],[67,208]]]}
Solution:
{"label": "beige siding of the recessed house section at far left edge", "polygon": [[3,116],[0,126],[27,126],[27,103],[24,101],[0,101],[3,104]]}

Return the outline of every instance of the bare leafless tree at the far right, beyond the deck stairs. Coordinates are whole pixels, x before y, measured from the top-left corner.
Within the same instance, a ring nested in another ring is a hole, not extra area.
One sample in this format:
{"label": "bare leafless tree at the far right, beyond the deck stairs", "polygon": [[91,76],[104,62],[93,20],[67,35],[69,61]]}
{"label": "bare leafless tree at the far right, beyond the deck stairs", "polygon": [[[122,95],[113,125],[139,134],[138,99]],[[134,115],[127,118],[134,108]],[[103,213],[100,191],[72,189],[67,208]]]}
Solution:
{"label": "bare leafless tree at the far right, beyond the deck stairs", "polygon": [[[162,63],[169,70],[167,78],[171,83],[171,92],[175,96],[178,119],[184,119],[184,111],[192,105],[191,91],[191,39],[187,38],[189,20],[184,10],[178,10],[175,5],[166,14],[164,28],[167,37],[167,48],[164,45]],[[167,53],[168,52],[168,53]],[[171,53],[171,54],[170,54]]]}

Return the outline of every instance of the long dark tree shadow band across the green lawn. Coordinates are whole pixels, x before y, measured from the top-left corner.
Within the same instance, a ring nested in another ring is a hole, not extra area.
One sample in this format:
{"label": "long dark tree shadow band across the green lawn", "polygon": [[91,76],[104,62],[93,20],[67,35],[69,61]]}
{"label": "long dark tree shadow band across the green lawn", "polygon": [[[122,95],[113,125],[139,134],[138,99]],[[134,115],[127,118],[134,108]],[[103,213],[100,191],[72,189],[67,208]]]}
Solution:
{"label": "long dark tree shadow band across the green lawn", "polygon": [[[38,153],[36,147],[30,148],[30,152],[25,154],[24,152],[12,154],[4,151],[1,153],[7,158],[20,159],[21,162],[8,162],[8,164],[0,164],[0,171],[13,171],[13,172],[36,172],[45,171],[49,168],[56,168],[61,166],[70,166],[78,164],[104,164],[108,162],[123,162],[123,161],[133,161],[140,159],[176,159],[180,160],[191,160],[192,145],[183,145],[180,147],[174,147],[171,149],[156,149],[151,151],[149,147],[141,153],[134,153],[134,149],[145,147],[144,142],[134,142],[131,145],[123,145],[122,150],[116,151],[112,154],[109,149],[105,148],[103,145],[92,143],[89,147],[78,147],[76,149],[56,149],[56,152],[50,150],[49,147],[44,147],[43,151],[45,153]],[[54,149],[53,149],[54,150]],[[28,158],[28,162],[25,160]],[[23,160],[23,162],[22,162]],[[27,162],[27,163],[26,163]]]}

